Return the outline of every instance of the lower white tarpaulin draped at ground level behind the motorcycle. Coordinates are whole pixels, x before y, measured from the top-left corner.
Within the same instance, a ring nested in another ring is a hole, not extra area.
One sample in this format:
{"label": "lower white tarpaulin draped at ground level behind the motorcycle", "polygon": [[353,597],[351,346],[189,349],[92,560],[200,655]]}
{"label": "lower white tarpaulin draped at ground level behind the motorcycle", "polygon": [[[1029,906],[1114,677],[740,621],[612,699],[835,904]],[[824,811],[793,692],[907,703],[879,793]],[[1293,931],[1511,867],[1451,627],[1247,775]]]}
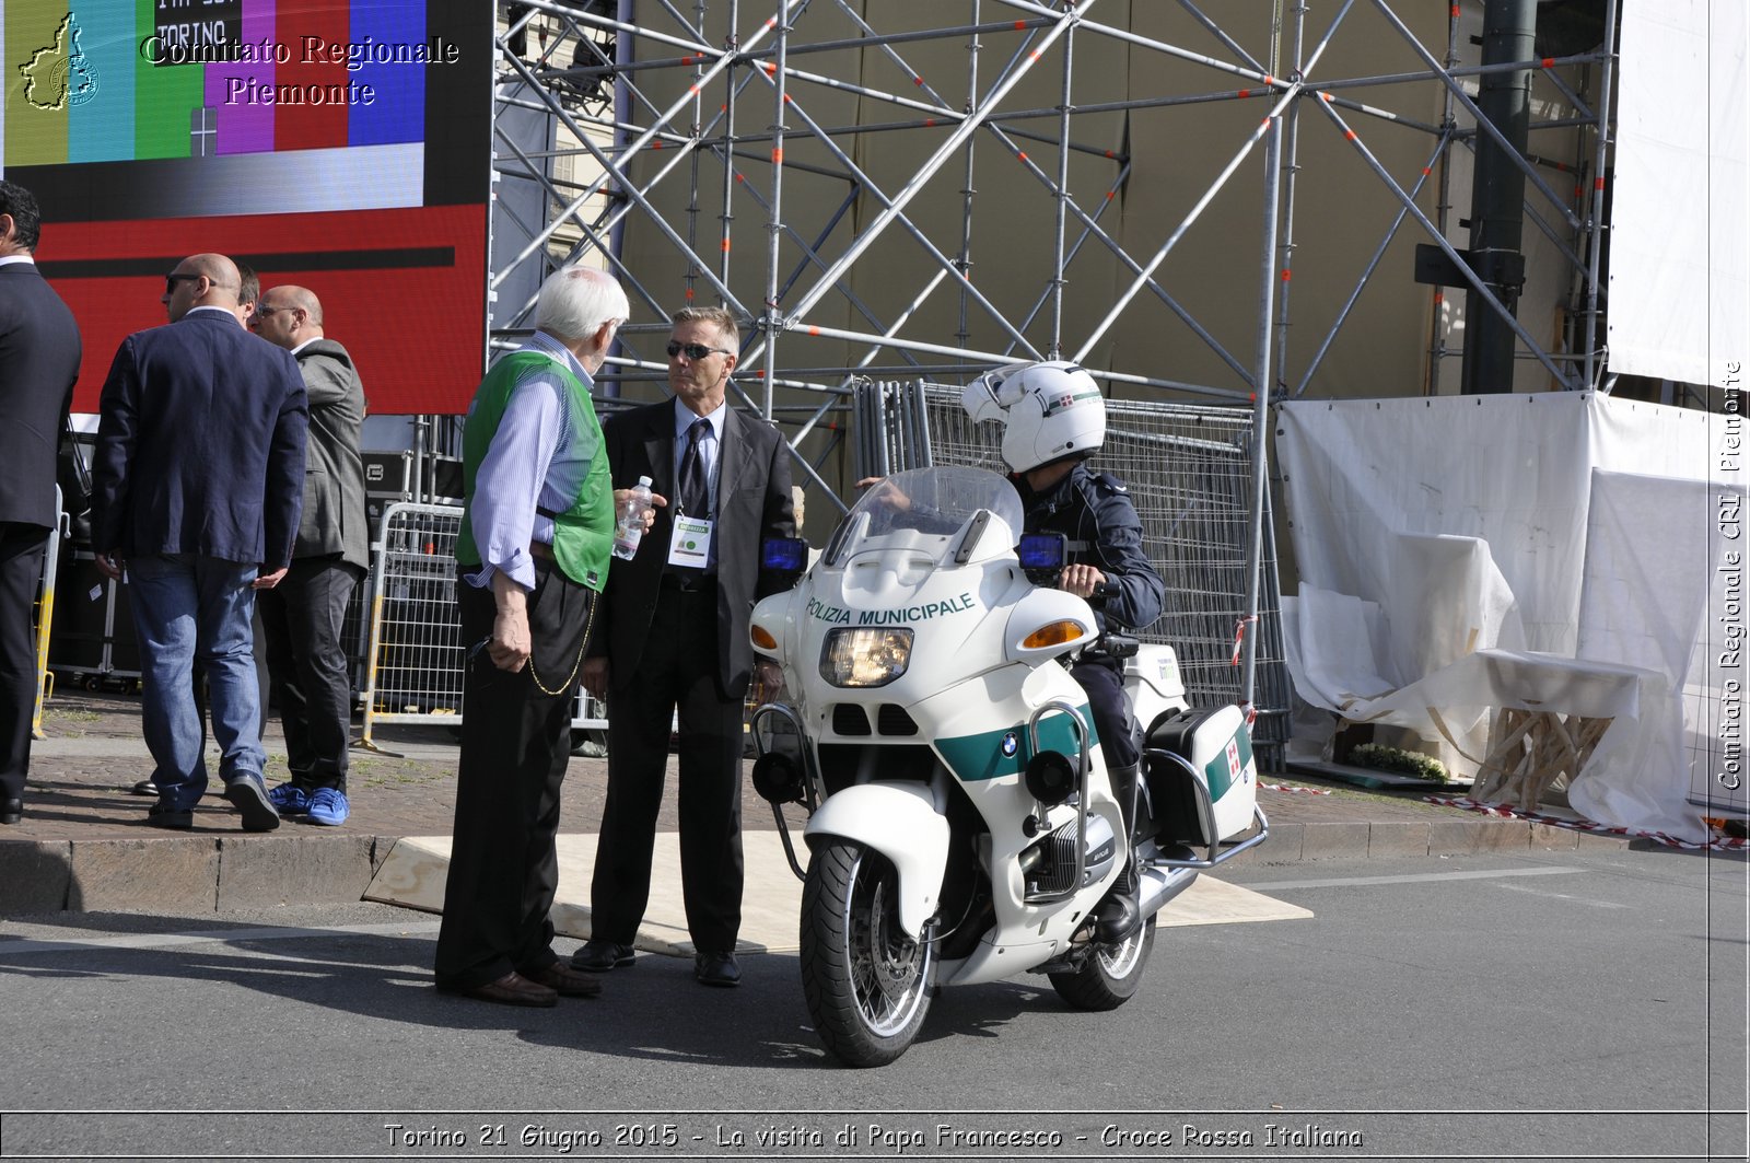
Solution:
{"label": "lower white tarpaulin draped at ground level behind the motorcycle", "polygon": [[1743,634],[1722,590],[1741,545],[1722,532],[1743,497],[1717,468],[1736,461],[1729,424],[1591,392],[1283,405],[1297,694],[1480,757],[1510,687],[1536,704],[1592,671],[1617,723],[1570,802],[1704,839],[1692,776],[1720,769],[1743,678],[1708,666]]}

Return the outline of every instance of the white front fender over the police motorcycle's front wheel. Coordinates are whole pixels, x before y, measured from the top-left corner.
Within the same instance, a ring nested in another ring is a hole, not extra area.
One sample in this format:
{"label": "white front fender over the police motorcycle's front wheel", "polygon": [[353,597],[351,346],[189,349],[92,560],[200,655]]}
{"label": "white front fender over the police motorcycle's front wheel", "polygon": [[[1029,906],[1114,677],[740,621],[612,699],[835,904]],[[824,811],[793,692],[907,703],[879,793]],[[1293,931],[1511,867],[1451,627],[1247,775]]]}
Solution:
{"label": "white front fender over the police motorcycle's front wheel", "polygon": [[900,876],[900,927],[917,941],[942,900],[948,867],[948,821],[929,788],[906,783],[858,783],[830,795],[802,830],[808,849],[838,837],[873,848]]}

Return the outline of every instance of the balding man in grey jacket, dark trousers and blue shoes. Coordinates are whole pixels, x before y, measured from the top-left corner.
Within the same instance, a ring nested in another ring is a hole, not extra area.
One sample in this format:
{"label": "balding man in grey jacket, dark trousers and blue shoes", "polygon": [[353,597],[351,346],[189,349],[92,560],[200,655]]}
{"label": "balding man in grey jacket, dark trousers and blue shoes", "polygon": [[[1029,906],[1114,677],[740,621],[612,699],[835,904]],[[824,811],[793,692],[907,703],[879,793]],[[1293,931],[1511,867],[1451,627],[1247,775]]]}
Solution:
{"label": "balding man in grey jacket, dark trousers and blue shoes", "polygon": [[324,335],[322,303],[312,291],[271,287],[248,326],[298,359],[310,398],[304,513],[292,567],[256,603],[290,769],[290,779],[268,797],[282,816],[332,827],[345,823],[352,809],[346,800],[352,680],[341,624],[371,562],[359,455],[364,384],[346,349]]}

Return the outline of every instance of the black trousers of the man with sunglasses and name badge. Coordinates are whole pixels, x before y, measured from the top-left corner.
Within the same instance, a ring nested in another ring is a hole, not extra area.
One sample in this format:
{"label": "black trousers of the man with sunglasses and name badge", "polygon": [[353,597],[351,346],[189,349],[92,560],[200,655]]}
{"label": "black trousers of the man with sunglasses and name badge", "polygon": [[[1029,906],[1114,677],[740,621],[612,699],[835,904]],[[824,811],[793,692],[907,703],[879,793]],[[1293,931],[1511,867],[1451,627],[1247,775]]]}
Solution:
{"label": "black trousers of the man with sunglasses and name badge", "polygon": [[718,681],[718,592],[663,582],[635,669],[609,659],[607,804],[590,885],[590,935],[632,944],[651,893],[668,723],[681,729],[681,893],[702,953],[742,928],[742,699]]}

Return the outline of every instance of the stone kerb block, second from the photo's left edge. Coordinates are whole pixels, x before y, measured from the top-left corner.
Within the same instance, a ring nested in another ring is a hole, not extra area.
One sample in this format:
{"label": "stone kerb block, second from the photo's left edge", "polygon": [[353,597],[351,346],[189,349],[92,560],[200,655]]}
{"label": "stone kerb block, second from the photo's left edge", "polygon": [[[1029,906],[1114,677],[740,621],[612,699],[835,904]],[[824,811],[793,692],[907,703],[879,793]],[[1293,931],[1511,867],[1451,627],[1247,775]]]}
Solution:
{"label": "stone kerb block, second from the photo's left edge", "polygon": [[219,837],[74,841],[70,865],[72,913],[212,909],[219,892]]}

